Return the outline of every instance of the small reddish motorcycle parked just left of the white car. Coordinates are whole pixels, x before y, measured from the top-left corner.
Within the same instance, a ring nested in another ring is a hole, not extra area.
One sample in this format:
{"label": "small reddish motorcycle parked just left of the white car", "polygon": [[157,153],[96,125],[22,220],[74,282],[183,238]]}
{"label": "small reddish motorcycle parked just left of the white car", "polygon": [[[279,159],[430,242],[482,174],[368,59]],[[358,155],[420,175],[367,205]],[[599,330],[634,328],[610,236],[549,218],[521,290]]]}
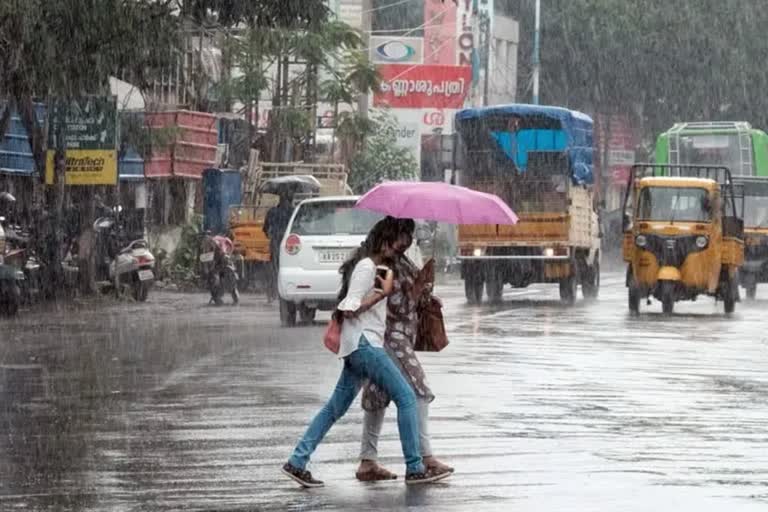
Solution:
{"label": "small reddish motorcycle parked just left of the white car", "polygon": [[232,302],[240,302],[235,270],[234,244],[225,236],[203,236],[200,246],[200,274],[211,293],[211,302],[221,306],[225,293],[232,296]]}

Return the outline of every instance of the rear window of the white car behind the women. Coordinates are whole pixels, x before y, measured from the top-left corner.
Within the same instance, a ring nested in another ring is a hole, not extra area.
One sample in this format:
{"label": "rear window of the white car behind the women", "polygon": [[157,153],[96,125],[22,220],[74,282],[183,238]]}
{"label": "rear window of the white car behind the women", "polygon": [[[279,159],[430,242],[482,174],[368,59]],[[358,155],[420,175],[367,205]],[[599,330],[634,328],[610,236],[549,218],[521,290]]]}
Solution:
{"label": "rear window of the white car behind the women", "polygon": [[366,235],[382,215],[353,209],[353,201],[322,201],[299,207],[291,233],[301,236]]}

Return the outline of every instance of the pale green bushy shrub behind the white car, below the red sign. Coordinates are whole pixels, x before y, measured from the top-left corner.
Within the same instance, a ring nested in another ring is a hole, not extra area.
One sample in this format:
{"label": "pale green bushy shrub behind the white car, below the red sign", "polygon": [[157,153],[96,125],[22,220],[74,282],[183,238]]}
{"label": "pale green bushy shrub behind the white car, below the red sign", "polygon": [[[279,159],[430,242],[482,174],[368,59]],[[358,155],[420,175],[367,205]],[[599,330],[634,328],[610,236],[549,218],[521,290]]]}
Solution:
{"label": "pale green bushy shrub behind the white car, below the red sign", "polygon": [[368,129],[372,131],[363,151],[350,162],[349,184],[356,193],[364,193],[387,180],[413,180],[419,163],[407,149],[397,146],[397,120],[386,111],[371,111]]}

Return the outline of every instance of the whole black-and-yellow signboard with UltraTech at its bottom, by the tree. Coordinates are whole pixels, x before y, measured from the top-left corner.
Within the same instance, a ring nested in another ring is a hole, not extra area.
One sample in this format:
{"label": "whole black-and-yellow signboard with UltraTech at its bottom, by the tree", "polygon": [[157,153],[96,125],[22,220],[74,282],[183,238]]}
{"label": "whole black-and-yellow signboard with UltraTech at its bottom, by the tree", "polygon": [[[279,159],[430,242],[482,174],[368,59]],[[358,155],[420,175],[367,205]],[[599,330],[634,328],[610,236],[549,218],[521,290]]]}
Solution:
{"label": "whole black-and-yellow signboard with UltraTech at its bottom, by the tree", "polygon": [[[57,137],[64,140],[59,141]],[[66,148],[67,185],[117,183],[117,98],[88,96],[58,100],[51,109],[45,182],[54,183],[55,148]]]}

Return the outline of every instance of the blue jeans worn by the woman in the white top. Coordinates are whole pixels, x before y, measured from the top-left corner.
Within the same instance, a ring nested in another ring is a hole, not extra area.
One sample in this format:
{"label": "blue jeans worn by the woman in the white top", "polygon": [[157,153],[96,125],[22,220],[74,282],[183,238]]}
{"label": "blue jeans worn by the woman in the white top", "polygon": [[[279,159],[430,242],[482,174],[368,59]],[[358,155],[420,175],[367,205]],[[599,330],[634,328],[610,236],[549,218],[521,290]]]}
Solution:
{"label": "blue jeans worn by the woman in the white top", "polygon": [[424,471],[419,448],[416,394],[384,349],[372,347],[364,337],[360,338],[357,350],[344,358],[344,369],[333,395],[309,424],[288,459],[293,467],[306,468],[317,445],[333,424],[346,414],[366,379],[384,389],[397,405],[397,427],[400,430],[406,472]]}

